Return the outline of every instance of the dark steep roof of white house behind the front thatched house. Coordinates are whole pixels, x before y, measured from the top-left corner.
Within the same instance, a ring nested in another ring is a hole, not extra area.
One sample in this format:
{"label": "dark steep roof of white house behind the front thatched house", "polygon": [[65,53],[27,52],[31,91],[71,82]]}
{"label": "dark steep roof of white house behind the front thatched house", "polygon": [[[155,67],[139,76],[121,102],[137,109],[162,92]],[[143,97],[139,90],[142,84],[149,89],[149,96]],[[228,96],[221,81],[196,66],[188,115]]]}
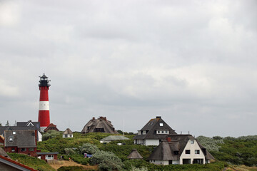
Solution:
{"label": "dark steep roof of white house behind the front thatched house", "polygon": [[[160,125],[162,123],[162,126]],[[168,130],[168,135],[176,135],[175,130],[173,130],[164,120],[157,116],[154,119],[151,119],[143,126],[140,131],[146,131],[146,134],[136,135],[133,139],[163,139],[166,138],[167,134],[157,134],[156,130]]]}

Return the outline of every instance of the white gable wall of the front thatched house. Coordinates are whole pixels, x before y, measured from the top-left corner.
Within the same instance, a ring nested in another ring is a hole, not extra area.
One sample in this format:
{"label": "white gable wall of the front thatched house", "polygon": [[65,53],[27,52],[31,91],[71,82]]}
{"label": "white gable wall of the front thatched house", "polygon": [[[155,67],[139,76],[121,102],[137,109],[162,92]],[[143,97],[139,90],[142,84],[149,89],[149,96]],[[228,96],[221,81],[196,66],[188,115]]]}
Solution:
{"label": "white gable wall of the front thatched house", "polygon": [[[199,147],[196,140],[193,140],[193,144],[191,144],[191,140],[188,140],[185,149],[183,150],[181,157],[180,157],[180,164],[183,164],[183,159],[191,159],[191,164],[193,164],[193,159],[203,159],[203,164],[205,162],[205,156],[203,154],[203,151],[201,150],[201,147]],[[186,150],[190,150],[190,155],[186,154]],[[200,150],[200,154],[195,154],[195,150]]]}

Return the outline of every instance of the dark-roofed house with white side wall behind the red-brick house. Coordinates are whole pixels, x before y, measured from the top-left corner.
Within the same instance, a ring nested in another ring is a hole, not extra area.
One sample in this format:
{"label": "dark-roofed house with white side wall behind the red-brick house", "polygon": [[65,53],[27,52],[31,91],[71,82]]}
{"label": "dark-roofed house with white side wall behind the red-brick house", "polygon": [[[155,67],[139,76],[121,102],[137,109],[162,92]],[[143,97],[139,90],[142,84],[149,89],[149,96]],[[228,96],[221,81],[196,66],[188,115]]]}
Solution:
{"label": "dark-roofed house with white side wall behind the red-brick house", "polygon": [[[18,124],[17,124],[18,125]],[[21,126],[1,126],[0,127],[0,135],[4,136],[5,130],[35,130],[36,133],[36,141],[42,141],[42,134],[36,125],[21,125]]]}

